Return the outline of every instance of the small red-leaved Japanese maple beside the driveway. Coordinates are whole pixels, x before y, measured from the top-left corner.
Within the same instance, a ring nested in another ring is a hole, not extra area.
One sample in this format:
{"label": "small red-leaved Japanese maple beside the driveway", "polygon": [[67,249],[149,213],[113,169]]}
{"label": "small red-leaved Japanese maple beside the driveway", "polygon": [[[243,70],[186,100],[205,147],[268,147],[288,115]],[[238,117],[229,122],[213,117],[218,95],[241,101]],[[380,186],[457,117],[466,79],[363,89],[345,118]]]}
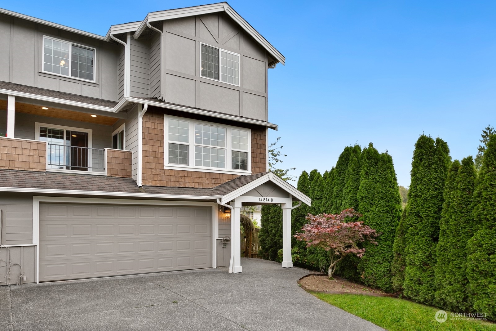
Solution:
{"label": "small red-leaved Japanese maple beside the driveway", "polygon": [[361,258],[365,253],[365,248],[359,248],[358,243],[369,242],[377,245],[374,238],[379,234],[362,221],[350,221],[362,215],[353,208],[345,209],[339,214],[308,214],[309,221],[302,227],[302,232],[295,234],[296,239],[307,242],[307,247],[322,247],[329,253],[329,279],[334,279],[332,275],[336,265],[348,254],[354,254]]}

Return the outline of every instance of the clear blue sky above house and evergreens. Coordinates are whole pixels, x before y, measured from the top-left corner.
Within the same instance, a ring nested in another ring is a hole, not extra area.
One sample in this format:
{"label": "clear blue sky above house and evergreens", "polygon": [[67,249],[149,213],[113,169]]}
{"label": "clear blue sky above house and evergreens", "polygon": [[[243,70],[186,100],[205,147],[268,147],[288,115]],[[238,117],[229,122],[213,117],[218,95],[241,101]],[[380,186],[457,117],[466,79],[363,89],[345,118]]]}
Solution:
{"label": "clear blue sky above house and evergreens", "polygon": [[[216,1],[2,1],[0,7],[105,35],[150,11]],[[228,1],[285,57],[269,70],[282,167],[331,169],[373,142],[410,185],[414,144],[439,136],[453,159],[495,126],[496,1]]]}

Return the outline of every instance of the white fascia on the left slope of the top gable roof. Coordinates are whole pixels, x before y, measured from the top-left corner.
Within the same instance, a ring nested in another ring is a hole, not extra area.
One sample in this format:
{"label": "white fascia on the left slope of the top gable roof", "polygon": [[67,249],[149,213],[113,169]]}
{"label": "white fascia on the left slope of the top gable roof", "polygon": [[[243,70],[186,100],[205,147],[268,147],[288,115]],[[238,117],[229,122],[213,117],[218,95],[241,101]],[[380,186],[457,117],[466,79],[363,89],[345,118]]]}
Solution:
{"label": "white fascia on the left slope of the top gable roof", "polygon": [[187,7],[187,8],[178,8],[178,9],[170,9],[170,10],[162,10],[150,12],[146,15],[145,19],[141,22],[141,25],[138,27],[136,32],[134,33],[134,39],[138,39],[139,36],[146,29],[146,22],[156,22],[173,18],[187,17],[187,16],[195,16],[195,15],[203,15],[210,14],[213,12],[219,12],[225,10],[226,2],[221,3],[213,3],[213,4],[205,4],[201,6]]}

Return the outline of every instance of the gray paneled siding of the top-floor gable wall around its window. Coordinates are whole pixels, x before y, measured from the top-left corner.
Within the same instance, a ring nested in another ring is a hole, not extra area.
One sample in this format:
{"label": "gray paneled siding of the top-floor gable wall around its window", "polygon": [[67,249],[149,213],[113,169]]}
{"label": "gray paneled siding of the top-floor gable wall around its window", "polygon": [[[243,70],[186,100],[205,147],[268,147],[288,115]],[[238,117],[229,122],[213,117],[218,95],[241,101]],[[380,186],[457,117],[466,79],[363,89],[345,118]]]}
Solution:
{"label": "gray paneled siding of the top-floor gable wall around its window", "polygon": [[[162,29],[167,102],[268,120],[267,53],[231,18],[213,13],[171,19]],[[201,44],[240,55],[240,86],[200,76]]]}

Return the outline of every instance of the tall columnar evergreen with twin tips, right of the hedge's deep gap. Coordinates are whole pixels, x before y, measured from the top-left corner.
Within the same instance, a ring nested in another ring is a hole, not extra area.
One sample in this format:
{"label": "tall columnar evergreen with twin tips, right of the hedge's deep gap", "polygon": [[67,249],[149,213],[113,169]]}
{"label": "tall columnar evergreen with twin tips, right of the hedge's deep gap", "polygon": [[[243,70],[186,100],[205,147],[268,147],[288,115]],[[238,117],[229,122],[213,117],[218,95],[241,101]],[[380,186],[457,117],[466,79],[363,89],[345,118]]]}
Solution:
{"label": "tall columnar evergreen with twin tips, right of the hedge's deep gap", "polygon": [[439,237],[442,194],[450,164],[449,149],[442,139],[422,134],[413,152],[412,181],[406,209],[406,268],[404,294],[434,304],[435,247]]}

